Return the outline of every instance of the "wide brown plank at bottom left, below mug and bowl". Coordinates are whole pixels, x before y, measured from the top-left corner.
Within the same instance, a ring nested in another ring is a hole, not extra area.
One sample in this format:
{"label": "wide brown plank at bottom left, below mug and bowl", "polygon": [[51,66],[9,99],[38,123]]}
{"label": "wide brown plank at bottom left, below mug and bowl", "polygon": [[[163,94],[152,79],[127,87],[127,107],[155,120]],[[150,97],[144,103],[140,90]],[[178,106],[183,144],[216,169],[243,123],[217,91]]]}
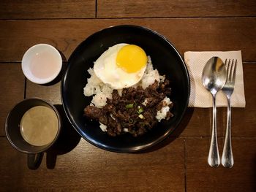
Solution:
{"label": "wide brown plank at bottom left, below mug and bowl", "polygon": [[57,155],[54,169],[48,168],[48,155],[53,153],[46,153],[35,171],[26,168],[26,155],[6,138],[0,138],[0,147],[1,191],[184,191],[183,139],[150,153],[129,155],[100,150],[80,139],[72,151]]}

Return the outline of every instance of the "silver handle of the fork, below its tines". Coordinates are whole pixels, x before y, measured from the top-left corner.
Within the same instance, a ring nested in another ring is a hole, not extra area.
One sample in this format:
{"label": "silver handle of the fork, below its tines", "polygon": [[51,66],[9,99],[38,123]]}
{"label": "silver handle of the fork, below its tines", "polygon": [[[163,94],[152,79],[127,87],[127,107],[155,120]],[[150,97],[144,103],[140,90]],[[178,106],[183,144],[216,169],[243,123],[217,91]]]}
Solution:
{"label": "silver handle of the fork, below its tines", "polygon": [[234,164],[234,158],[231,145],[231,107],[230,96],[227,96],[227,128],[225,135],[225,142],[222,153],[222,166],[231,168]]}

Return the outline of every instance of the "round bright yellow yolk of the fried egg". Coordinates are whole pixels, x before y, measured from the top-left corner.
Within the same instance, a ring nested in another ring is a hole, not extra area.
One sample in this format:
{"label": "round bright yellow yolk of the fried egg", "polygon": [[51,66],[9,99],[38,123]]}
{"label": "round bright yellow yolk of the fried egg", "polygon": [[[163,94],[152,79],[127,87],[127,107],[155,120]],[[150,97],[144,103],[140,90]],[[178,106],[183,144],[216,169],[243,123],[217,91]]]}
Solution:
{"label": "round bright yellow yolk of the fried egg", "polygon": [[138,72],[146,66],[147,56],[145,51],[137,45],[121,47],[116,56],[117,66],[127,73]]}

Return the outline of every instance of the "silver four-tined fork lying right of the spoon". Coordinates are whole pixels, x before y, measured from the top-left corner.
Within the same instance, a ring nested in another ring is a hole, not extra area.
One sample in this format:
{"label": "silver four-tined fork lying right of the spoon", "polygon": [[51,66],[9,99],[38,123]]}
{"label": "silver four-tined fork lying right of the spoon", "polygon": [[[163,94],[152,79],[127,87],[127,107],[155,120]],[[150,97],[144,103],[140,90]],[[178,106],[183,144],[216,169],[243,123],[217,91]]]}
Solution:
{"label": "silver four-tined fork lying right of the spoon", "polygon": [[237,60],[230,59],[225,60],[225,66],[227,67],[227,81],[222,88],[222,92],[227,96],[227,128],[225,135],[225,142],[222,153],[222,166],[231,168],[234,164],[232,145],[231,145],[231,107],[230,97],[234,91],[234,85],[236,80],[236,64]]}

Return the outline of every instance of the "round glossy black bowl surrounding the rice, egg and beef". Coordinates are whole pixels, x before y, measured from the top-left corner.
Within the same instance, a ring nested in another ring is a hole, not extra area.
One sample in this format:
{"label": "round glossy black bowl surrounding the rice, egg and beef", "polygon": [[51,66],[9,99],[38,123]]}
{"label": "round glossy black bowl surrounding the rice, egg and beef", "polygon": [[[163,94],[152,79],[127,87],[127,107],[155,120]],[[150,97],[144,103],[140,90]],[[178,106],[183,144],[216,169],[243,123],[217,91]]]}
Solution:
{"label": "round glossy black bowl surrounding the rice, egg and beef", "polygon": [[[89,67],[118,43],[138,45],[151,56],[154,68],[165,74],[171,82],[174,117],[158,123],[151,131],[141,137],[124,134],[110,137],[99,128],[99,123],[86,120],[83,109],[91,102],[91,97],[83,95]],[[189,74],[184,61],[176,48],[160,34],[141,26],[114,26],[92,34],[72,53],[67,71],[61,83],[61,99],[64,110],[72,126],[91,144],[105,150],[130,153],[151,147],[165,139],[178,126],[184,116],[189,101]]]}

